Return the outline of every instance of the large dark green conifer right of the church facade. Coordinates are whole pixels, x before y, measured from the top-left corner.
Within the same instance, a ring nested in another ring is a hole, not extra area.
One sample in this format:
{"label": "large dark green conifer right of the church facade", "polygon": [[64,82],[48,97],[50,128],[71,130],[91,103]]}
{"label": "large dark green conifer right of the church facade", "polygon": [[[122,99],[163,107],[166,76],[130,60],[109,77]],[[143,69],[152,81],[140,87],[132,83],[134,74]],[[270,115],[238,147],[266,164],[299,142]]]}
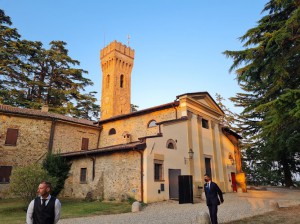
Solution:
{"label": "large dark green conifer right of the church facade", "polygon": [[233,58],[244,93],[231,98],[244,108],[245,136],[255,143],[259,160],[293,185],[299,172],[300,1],[270,0],[258,25],[240,40],[246,49],[225,51]]}

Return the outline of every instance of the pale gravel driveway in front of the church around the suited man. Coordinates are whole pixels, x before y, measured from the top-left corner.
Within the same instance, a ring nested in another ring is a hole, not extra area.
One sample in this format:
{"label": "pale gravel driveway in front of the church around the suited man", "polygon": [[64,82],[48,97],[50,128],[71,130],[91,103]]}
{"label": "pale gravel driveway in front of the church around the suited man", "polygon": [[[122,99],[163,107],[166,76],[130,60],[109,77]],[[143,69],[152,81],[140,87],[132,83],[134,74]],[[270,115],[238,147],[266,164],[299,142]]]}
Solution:
{"label": "pale gravel driveway in front of the church around the suited man", "polygon": [[[280,207],[300,205],[300,191],[270,188],[267,191],[249,190],[247,193],[224,194],[225,202],[219,206],[219,223],[251,217],[273,210],[272,202]],[[63,219],[59,224],[183,224],[196,223],[196,216],[207,212],[204,201],[197,204],[178,204],[177,201],[152,203],[138,213],[102,215],[86,218]]]}

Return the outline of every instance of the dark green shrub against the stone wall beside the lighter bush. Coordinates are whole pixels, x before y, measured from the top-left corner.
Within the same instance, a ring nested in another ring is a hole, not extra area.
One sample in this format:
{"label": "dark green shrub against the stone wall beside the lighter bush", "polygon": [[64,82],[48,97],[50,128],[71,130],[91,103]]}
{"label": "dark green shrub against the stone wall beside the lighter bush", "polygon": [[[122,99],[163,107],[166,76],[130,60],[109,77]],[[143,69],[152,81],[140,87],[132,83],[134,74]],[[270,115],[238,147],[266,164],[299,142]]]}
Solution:
{"label": "dark green shrub against the stone wall beside the lighter bush", "polygon": [[71,163],[59,154],[48,153],[43,161],[43,168],[48,174],[57,180],[56,186],[53,187],[51,194],[57,196],[64,188],[65,180],[68,178]]}

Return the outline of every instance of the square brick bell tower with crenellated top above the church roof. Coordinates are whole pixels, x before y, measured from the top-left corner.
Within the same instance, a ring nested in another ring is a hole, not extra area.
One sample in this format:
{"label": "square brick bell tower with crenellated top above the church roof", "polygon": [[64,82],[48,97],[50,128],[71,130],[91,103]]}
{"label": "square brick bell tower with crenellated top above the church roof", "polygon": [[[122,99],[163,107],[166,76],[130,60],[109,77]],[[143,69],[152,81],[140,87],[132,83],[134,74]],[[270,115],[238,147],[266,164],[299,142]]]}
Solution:
{"label": "square brick bell tower with crenellated top above the church roof", "polygon": [[111,42],[100,51],[102,96],[100,120],[131,112],[131,71],[134,50]]}

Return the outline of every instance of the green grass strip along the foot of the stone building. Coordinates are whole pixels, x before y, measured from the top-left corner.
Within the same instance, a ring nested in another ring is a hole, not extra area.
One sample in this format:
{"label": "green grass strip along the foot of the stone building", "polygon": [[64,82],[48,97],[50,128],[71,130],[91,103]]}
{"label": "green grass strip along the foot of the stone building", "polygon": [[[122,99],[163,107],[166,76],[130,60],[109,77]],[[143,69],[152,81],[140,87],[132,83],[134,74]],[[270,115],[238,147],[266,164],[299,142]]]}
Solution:
{"label": "green grass strip along the foot of the stone building", "polygon": [[[88,202],[75,199],[61,199],[60,201],[62,204],[61,219],[119,214],[131,211],[131,204],[128,202]],[[24,224],[26,220],[26,209],[27,206],[18,199],[1,199],[1,223]]]}

